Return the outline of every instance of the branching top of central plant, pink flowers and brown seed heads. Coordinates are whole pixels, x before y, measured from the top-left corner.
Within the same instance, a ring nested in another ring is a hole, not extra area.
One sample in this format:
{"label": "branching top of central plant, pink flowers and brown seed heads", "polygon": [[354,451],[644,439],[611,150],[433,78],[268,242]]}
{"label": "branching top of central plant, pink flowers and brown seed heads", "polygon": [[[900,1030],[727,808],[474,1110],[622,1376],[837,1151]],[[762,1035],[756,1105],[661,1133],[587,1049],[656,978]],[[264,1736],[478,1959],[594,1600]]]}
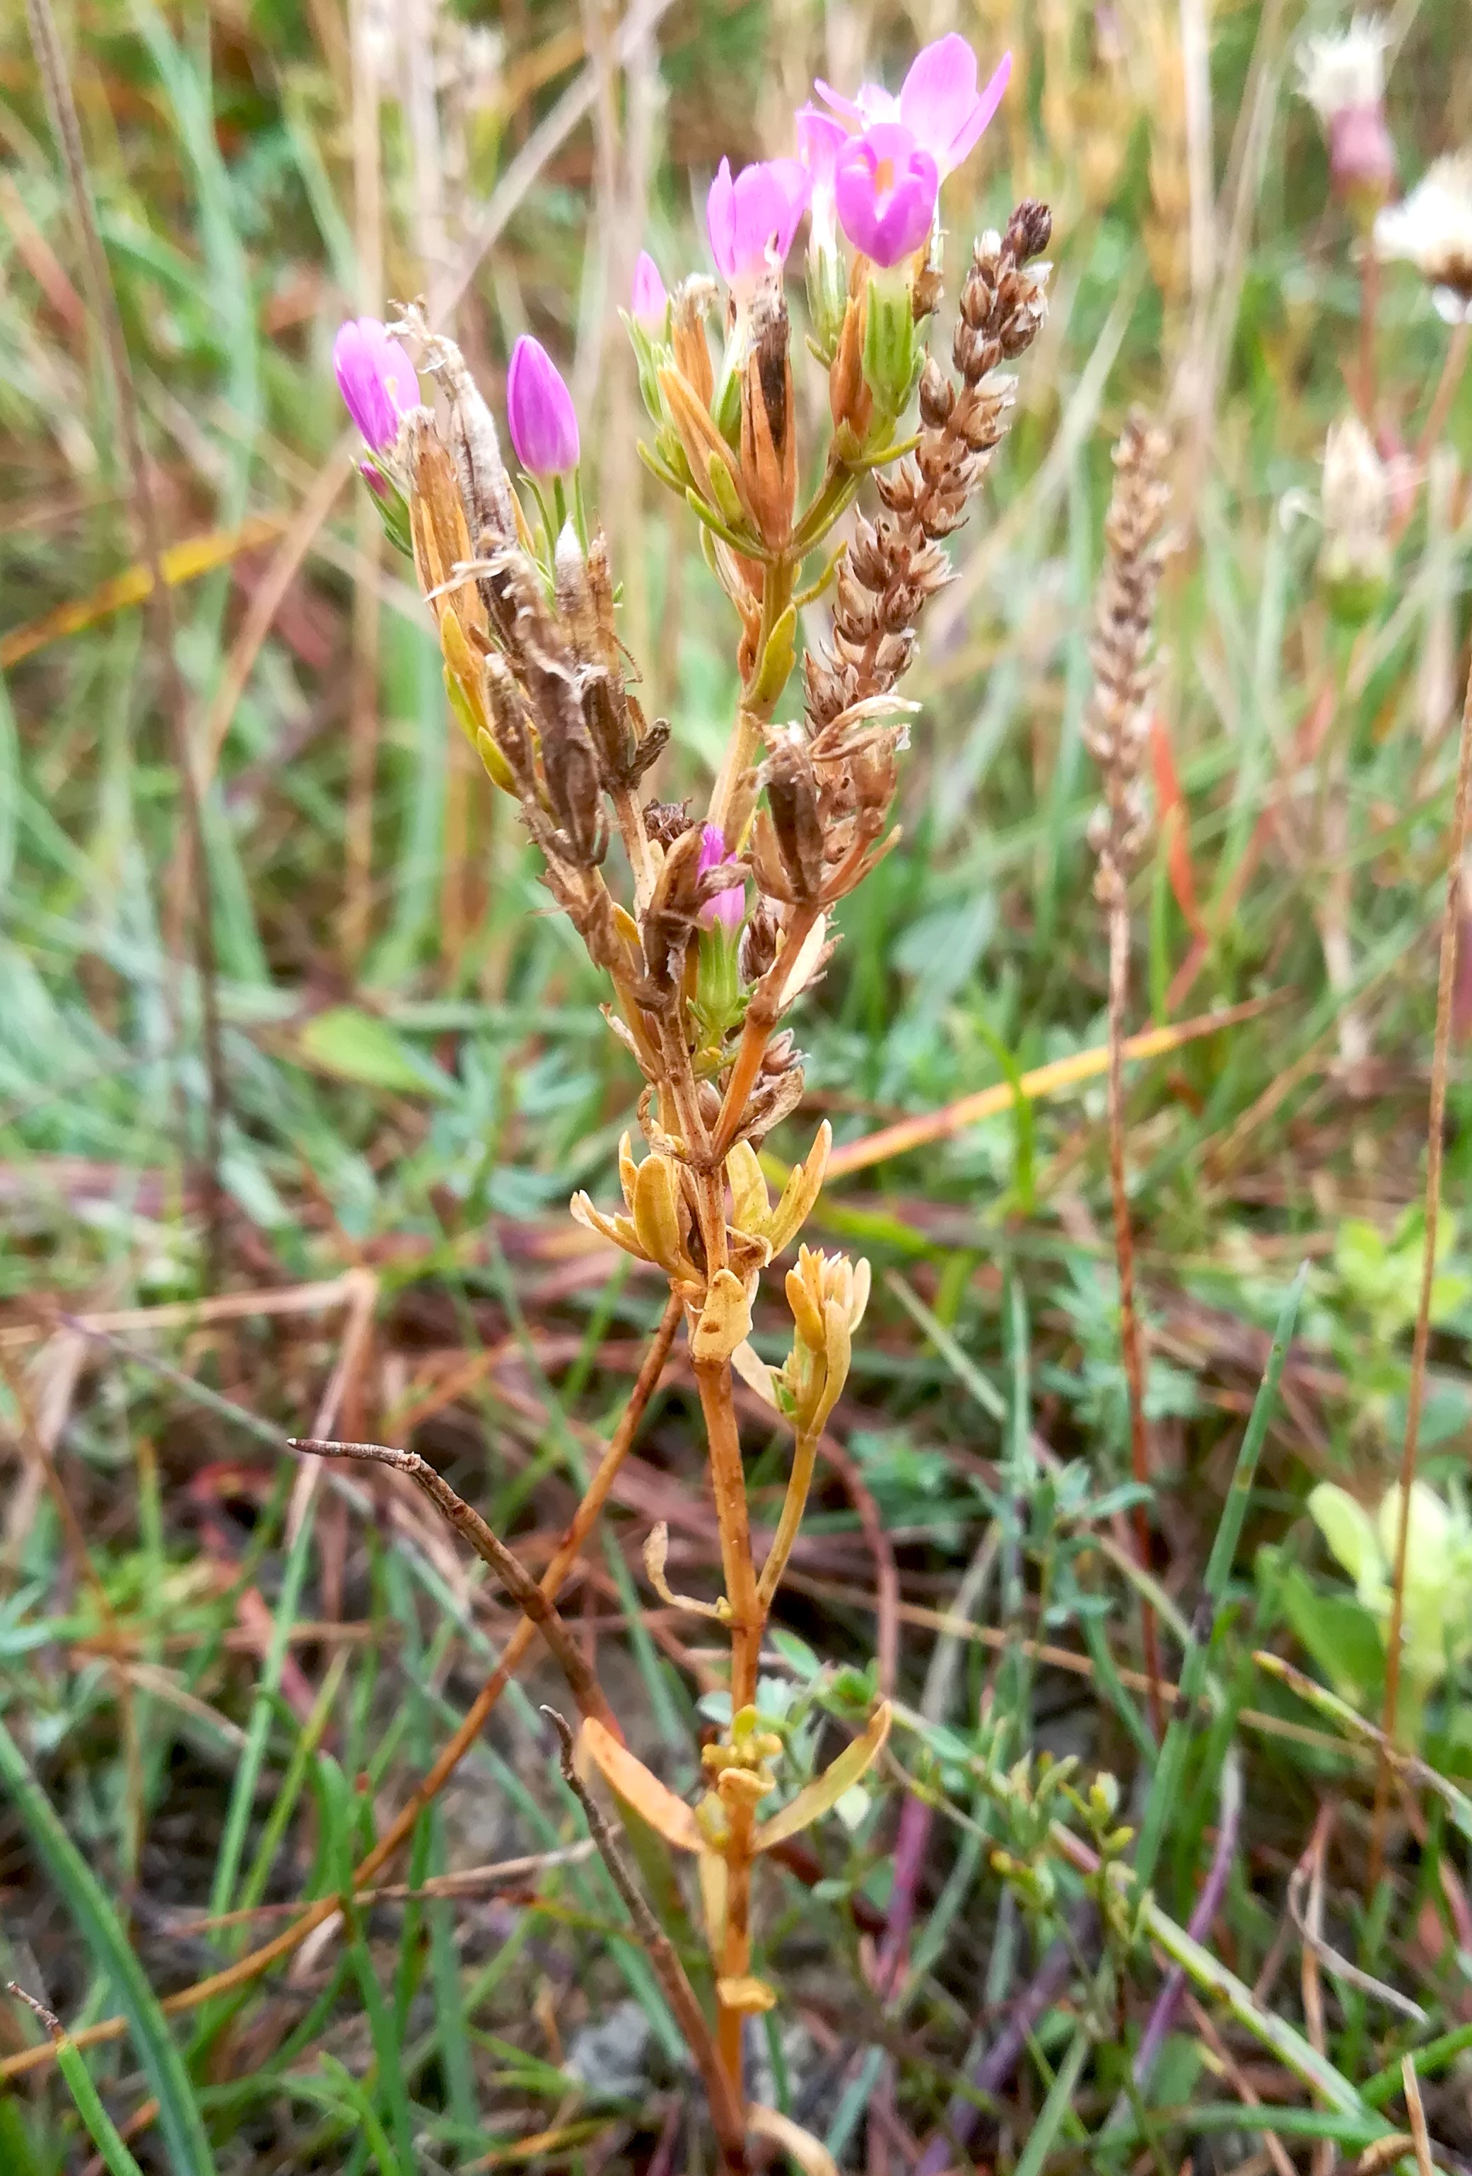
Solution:
{"label": "branching top of central plant, pink flowers and brown seed heads", "polygon": [[[490,779],[520,803],[549,888],[614,979],[618,1034],[649,1084],[651,1140],[679,1142],[677,1158],[706,1171],[801,1092],[777,1025],[823,964],[832,910],[884,849],[912,707],[895,681],[947,577],[943,540],[1006,431],[1004,366],[1043,318],[1047,268],[1034,259],[1050,220],[1021,205],[1006,235],[976,244],[952,339],[958,383],[921,348],[939,302],[939,189],[980,141],[1008,72],[1004,57],[978,87],[976,54],[949,35],[917,54],[897,94],[867,83],[849,98],[819,83],[819,102],[795,120],[793,157],[736,174],[723,159],[706,202],[727,296],[716,355],[714,283],[692,274],[671,294],[653,259],[638,259],[627,326],[655,424],[640,453],[701,520],[740,622],[740,705],[703,823],[684,805],[640,805],[668,727],[645,718],[629,685],[608,546],[584,509],[577,413],[547,348],[520,337],[510,357],[514,481],[459,350],[418,311],[394,326],[355,320],[335,342],[364,477],[414,557],[453,712]],[[804,220],[834,431],[799,507],[808,463],[784,265]],[[412,350],[440,411],[422,400]],[[917,385],[906,459],[899,418]],[[804,588],[869,477],[884,511],[860,518],[847,557],[830,555]],[[806,718],[775,722],[797,666],[797,607],[830,583],[832,646],[804,662]],[[603,873],[610,812],[629,905]],[[701,1247],[712,1262],[727,1253],[710,1203],[692,1262]]]}

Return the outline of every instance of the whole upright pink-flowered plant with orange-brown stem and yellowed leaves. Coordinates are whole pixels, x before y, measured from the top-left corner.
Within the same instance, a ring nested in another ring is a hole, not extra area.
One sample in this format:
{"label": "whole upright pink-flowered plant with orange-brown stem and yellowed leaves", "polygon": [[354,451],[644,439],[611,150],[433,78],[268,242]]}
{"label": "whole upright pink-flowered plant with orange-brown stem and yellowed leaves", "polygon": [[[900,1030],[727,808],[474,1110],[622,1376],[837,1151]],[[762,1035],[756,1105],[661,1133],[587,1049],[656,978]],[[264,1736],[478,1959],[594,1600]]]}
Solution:
{"label": "whole upright pink-flowered plant with orange-brown stem and yellowed leaves", "polygon": [[[610,1027],[642,1079],[649,1153],[636,1160],[625,1134],[623,1210],[608,1214],[579,1195],[573,1214],[662,1273],[684,1314],[727,1593],[671,1597],[658,1530],[647,1571],[673,1606],[729,1628],[734,1723],[710,1754],[714,1784],[699,1815],[608,1732],[599,1739],[597,1717],[584,1736],[666,1841],[701,1858],[719,2065],[736,2109],[740,2017],[773,2000],[751,1974],[751,1863],[827,1810],[888,1728],[880,1708],[825,1776],[756,1819],[758,1800],[777,1789],[769,1758],[780,1752],[751,1721],[762,1632],[869,1293],[867,1264],[804,1249],[784,1286],[790,1356],[782,1369],[758,1358],[758,1279],[812,1210],[830,1136],[819,1129],[775,1203],[756,1145],[804,1092],[786,1014],[823,970],[834,912],[897,836],[888,816],[915,709],[897,681],[923,607],[947,579],[945,537],[1006,435],[1008,366],[1045,313],[1047,265],[1036,259],[1052,222],[1023,200],[1004,233],[971,250],[952,368],[923,346],[941,302],[939,191],[976,148],[1006,76],[1002,61],[978,89],[969,46],[943,37],[897,96],[864,85],[845,98],[817,85],[821,104],[797,115],[793,157],[736,174],[723,159],[710,185],[706,224],[725,296],[699,272],[666,289],[653,259],[638,259],[625,322],[653,422],[638,450],[701,524],[736,616],[736,714],[699,816],[688,803],[645,799],[668,725],[647,718],[634,692],[608,542],[586,505],[577,413],[551,355],[523,337],[510,357],[505,429],[518,477],[457,346],[416,309],[394,326],[344,326],[333,357],[364,435],[364,474],[433,614],[451,709],[492,783],[516,801],[547,888],[608,977]],[[799,448],[784,283],[804,220],[808,346],[827,372],[832,416],[819,448]],[[801,477],[814,479],[806,500]],[[878,492],[878,511],[858,514],[847,546],[834,546],[864,487]],[[825,592],[832,638],[799,670],[797,616]],[[788,698],[780,716],[788,688],[797,714]],[[760,1575],[734,1373],[795,1432]]]}

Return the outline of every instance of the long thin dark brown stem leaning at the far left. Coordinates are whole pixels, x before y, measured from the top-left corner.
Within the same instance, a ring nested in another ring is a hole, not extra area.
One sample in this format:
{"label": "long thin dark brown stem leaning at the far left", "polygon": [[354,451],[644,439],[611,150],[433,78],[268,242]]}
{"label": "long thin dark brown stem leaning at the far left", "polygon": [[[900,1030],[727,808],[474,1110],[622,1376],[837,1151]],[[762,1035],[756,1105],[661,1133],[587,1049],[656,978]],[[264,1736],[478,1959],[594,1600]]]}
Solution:
{"label": "long thin dark brown stem leaning at the far left", "polygon": [[98,215],[91,202],[91,185],[87,181],[87,154],[83,150],[83,131],[76,118],[76,100],[72,96],[72,78],[68,74],[65,54],[61,48],[61,37],[57,33],[57,17],[52,13],[50,0],[26,0],[26,15],[30,22],[30,44],[35,48],[37,70],[46,87],[46,107],[50,113],[52,131],[65,161],[68,181],[72,185],[72,202],[76,207],[76,224],[83,235],[83,248],[87,259],[87,296],[91,302],[91,316],[102,333],[102,348],[107,357],[107,374],[113,385],[113,400],[118,405],[118,431],[122,437],[122,450],[128,466],[128,483],[133,494],[133,520],[139,531],[142,555],[148,566],[150,594],[148,609],[155,620],[155,638],[159,648],[159,666],[163,672],[163,688],[168,696],[170,727],[174,738],[174,768],[179,772],[179,799],[183,807],[183,840],[181,860],[194,870],[194,883],[185,883],[181,897],[194,892],[194,973],[200,988],[200,1027],[205,1044],[205,1079],[207,1079],[207,1110],[205,1110],[205,1155],[203,1155],[203,1199],[205,1199],[205,1284],[216,1286],[220,1282],[220,1269],[224,1258],[224,1192],[220,1186],[220,1136],[224,1129],[226,1110],[226,1088],[224,1088],[224,1058],[220,1047],[220,997],[216,990],[216,931],[209,899],[209,862],[205,855],[205,816],[200,805],[198,779],[194,770],[194,751],[189,744],[189,694],[185,690],[183,672],[179,670],[179,655],[174,648],[174,598],[163,572],[163,527],[159,522],[159,507],[152,496],[152,479],[148,474],[148,453],[144,448],[144,431],[137,409],[137,392],[133,385],[133,370],[128,363],[128,344],[122,331],[122,316],[118,311],[118,294],[113,289],[113,274],[107,263],[107,252],[102,248],[102,235],[98,231]]}

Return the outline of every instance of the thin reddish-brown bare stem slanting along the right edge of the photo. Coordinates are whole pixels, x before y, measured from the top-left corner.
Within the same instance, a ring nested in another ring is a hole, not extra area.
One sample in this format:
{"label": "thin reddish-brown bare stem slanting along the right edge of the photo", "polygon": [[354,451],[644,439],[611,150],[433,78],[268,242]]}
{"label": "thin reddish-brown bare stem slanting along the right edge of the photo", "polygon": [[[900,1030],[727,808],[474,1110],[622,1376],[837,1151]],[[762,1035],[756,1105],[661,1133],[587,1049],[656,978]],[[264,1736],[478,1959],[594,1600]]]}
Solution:
{"label": "thin reddish-brown bare stem slanting along the right edge of the photo", "polygon": [[[1461,927],[1463,857],[1468,849],[1468,788],[1472,786],[1472,675],[1461,705],[1461,740],[1457,744],[1457,794],[1452,801],[1452,838],[1446,866],[1446,910],[1442,914],[1442,966],[1437,975],[1437,1029],[1431,1051],[1431,1114],[1426,1125],[1426,1238],[1422,1247],[1422,1288],[1415,1306],[1415,1338],[1411,1343],[1411,1386],[1407,1390],[1404,1445],[1400,1449],[1400,1521],[1396,1528],[1396,1565],[1391,1575],[1389,1632],[1385,1639],[1385,1710],[1381,1728],[1396,1736],[1400,1706],[1400,1628],[1404,1621],[1404,1560],[1411,1534],[1411,1484],[1415,1449],[1426,1399],[1426,1349],[1431,1345],[1431,1293],[1437,1273],[1437,1221],[1442,1214],[1442,1155],[1446,1136],[1446,1071],[1452,1044],[1452,997],[1457,988],[1457,936]],[[1381,1750],[1374,1780],[1374,1828],[1370,1837],[1370,1891],[1374,1893],[1385,1863],[1385,1819],[1389,1813],[1391,1767]]]}

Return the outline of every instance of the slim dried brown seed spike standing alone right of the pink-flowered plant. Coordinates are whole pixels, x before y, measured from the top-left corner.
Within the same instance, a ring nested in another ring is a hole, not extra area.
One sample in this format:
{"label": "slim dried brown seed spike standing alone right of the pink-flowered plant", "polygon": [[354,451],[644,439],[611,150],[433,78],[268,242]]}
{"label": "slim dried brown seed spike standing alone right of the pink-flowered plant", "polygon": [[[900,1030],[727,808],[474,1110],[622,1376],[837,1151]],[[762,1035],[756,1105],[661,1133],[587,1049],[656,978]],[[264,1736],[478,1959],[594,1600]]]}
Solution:
{"label": "slim dried brown seed spike standing alone right of the pink-flowered plant", "polygon": [[1100,857],[1095,890],[1104,903],[1124,897],[1145,842],[1141,770],[1154,685],[1154,603],[1169,551],[1167,455],[1167,433],[1134,409],[1115,446],[1115,490],[1104,520],[1106,559],[1089,651],[1093,698],[1084,716],[1084,746],[1104,772],[1104,805],[1089,825],[1089,844]]}

